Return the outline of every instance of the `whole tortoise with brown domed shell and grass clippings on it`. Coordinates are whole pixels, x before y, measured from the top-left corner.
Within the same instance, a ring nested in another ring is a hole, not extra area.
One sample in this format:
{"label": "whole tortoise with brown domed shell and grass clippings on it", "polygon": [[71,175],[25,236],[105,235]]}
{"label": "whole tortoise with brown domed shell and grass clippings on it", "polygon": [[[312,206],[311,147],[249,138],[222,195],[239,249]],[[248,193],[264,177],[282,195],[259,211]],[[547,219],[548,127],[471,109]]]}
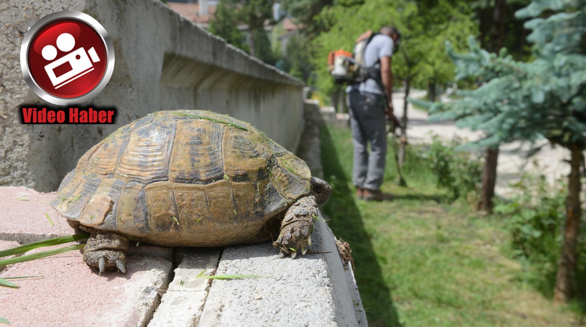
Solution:
{"label": "whole tortoise with brown domed shell and grass clippings on it", "polygon": [[[210,111],[159,111],[92,147],[50,205],[91,233],[100,273],[125,273],[129,239],[161,246],[274,240],[279,257],[311,245],[332,194],[305,161],[249,123]],[[277,236],[276,240],[274,237]]]}

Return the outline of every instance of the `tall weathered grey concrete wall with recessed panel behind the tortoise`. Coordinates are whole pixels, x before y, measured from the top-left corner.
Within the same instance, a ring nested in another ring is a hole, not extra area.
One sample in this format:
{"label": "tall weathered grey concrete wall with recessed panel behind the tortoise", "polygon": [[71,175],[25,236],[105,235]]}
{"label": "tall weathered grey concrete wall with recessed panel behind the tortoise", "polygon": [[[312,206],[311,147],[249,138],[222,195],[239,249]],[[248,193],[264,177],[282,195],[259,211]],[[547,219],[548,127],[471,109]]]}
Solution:
{"label": "tall weathered grey concrete wall with recessed panel behind the tortoise", "polygon": [[[113,40],[113,76],[91,104],[117,107],[116,125],[19,124],[21,104],[43,104],[22,77],[22,39],[37,20],[63,10],[87,13]],[[0,22],[0,185],[53,191],[91,146],[159,110],[229,113],[297,149],[302,82],[180,18],[158,0],[0,1]]]}

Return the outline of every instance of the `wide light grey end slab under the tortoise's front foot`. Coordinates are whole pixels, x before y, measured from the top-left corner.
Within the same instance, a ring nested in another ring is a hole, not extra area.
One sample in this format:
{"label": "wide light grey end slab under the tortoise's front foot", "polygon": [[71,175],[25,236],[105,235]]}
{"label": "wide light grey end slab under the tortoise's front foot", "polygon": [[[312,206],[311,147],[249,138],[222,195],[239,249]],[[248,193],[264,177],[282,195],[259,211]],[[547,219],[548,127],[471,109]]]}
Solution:
{"label": "wide light grey end slab under the tortoise's front foot", "polygon": [[270,243],[229,246],[216,274],[270,276],[214,280],[200,326],[366,326],[357,314],[335,240],[316,223],[311,250],[278,259]]}

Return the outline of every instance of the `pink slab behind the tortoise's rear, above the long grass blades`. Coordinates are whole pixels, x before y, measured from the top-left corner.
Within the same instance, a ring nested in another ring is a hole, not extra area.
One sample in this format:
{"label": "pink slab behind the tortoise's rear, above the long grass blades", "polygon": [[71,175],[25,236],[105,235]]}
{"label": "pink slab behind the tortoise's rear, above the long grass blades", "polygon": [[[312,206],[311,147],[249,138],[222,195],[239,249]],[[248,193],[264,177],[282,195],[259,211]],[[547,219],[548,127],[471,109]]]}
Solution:
{"label": "pink slab behind the tortoise's rear, above the long grass blades", "polygon": [[27,244],[76,233],[48,204],[56,195],[26,187],[0,187],[0,239]]}

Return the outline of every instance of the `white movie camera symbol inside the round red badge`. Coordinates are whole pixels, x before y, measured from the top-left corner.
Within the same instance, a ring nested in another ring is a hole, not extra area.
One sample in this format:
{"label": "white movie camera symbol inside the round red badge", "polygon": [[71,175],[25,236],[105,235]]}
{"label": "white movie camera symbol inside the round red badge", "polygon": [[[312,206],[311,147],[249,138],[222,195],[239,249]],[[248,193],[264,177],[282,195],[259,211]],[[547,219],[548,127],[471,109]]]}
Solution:
{"label": "white movie camera symbol inside the round red badge", "polygon": [[[69,52],[74,47],[75,38],[73,35],[62,33],[57,36],[57,48],[59,50]],[[52,44],[47,44],[43,47],[42,56],[45,60],[51,61],[57,56],[57,49]],[[45,71],[49,75],[49,80],[52,82],[55,90],[57,90],[63,85],[93,71],[93,63],[99,61],[100,57],[98,57],[94,47],[91,47],[87,51],[83,47],[79,47],[73,52],[47,64]]]}

